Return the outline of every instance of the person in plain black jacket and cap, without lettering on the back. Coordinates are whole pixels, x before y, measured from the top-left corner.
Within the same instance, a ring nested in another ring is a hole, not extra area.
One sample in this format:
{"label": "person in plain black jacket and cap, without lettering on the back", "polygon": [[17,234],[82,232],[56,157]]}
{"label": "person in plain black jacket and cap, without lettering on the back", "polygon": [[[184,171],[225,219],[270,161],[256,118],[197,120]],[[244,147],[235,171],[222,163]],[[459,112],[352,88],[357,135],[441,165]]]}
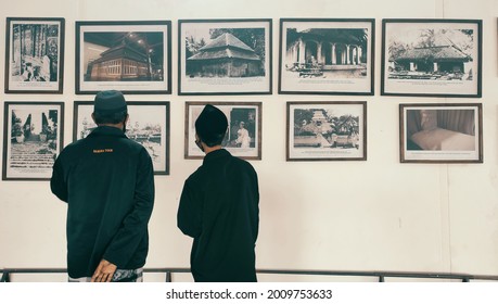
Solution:
{"label": "person in plain black jacket and cap, without lettering on the back", "polygon": [[206,153],[184,182],[178,227],[193,238],[195,281],[256,281],[259,191],[253,166],[221,148],[227,117],[207,104],[195,121],[195,143]]}

